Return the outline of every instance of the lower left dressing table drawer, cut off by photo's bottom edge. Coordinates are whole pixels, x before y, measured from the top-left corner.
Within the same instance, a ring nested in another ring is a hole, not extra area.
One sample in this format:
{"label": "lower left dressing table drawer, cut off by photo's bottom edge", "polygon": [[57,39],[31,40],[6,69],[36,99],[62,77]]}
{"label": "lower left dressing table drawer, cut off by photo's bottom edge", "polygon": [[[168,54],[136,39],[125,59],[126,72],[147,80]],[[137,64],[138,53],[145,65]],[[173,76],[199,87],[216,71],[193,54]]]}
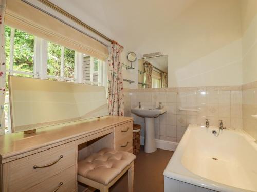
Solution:
{"label": "lower left dressing table drawer, cut off by photo's bottom edge", "polygon": [[42,183],[26,190],[26,192],[71,192],[77,187],[76,165],[65,169],[63,172],[50,177]]}

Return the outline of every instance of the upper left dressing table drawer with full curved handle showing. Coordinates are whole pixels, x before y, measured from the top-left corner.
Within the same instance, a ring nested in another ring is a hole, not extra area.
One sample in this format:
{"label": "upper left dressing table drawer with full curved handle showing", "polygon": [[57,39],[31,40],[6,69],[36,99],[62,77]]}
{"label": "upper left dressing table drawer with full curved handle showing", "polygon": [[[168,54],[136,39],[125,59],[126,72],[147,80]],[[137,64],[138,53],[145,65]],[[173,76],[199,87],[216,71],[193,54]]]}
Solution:
{"label": "upper left dressing table drawer with full curved handle showing", "polygon": [[9,162],[11,177],[8,191],[27,191],[28,188],[75,165],[76,153],[76,141],[73,141]]}

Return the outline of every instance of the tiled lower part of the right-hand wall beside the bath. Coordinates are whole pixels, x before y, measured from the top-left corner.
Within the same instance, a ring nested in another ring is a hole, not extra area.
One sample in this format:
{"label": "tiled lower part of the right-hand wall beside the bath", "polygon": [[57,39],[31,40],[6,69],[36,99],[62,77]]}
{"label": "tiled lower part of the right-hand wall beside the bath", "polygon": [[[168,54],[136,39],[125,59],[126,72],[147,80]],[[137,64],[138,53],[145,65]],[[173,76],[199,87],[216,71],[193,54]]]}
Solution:
{"label": "tiled lower part of the right-hand wall beside the bath", "polygon": [[246,84],[242,87],[243,95],[243,127],[254,139],[257,140],[257,82]]}

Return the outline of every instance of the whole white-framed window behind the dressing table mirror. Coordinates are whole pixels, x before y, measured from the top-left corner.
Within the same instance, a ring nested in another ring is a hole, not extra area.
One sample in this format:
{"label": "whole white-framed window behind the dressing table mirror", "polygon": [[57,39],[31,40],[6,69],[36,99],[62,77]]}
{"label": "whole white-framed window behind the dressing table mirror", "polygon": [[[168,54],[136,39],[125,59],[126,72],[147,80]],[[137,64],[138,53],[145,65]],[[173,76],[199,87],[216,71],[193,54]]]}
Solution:
{"label": "whole white-framed window behind the dressing table mirror", "polygon": [[[96,84],[106,87],[103,61],[5,26],[5,127],[10,127],[8,74]],[[89,65],[88,65],[89,63]]]}

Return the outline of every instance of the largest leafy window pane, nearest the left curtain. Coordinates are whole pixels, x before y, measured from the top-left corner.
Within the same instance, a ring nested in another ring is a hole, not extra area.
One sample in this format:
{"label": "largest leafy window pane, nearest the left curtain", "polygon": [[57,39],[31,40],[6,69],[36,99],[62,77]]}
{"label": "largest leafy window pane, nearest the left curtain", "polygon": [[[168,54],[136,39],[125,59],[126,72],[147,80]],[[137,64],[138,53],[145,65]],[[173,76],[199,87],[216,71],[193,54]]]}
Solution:
{"label": "largest leafy window pane, nearest the left curtain", "polygon": [[13,70],[33,73],[34,36],[15,29]]}

